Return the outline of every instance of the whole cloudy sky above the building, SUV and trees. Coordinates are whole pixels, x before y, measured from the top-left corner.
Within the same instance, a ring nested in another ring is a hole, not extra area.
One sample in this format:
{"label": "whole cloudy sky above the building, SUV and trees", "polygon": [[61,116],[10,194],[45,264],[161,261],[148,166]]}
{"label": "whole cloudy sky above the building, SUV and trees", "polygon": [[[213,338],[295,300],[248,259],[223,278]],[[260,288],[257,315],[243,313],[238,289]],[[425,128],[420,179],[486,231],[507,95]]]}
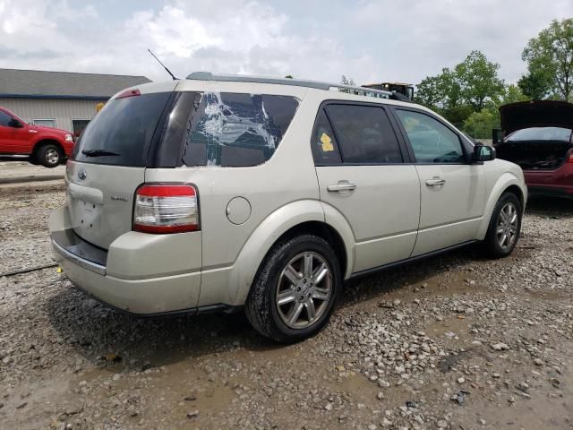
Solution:
{"label": "whole cloudy sky above the building, SUV and trees", "polygon": [[0,67],[145,75],[198,70],[359,84],[420,82],[473,49],[516,82],[521,52],[572,0],[0,0]]}

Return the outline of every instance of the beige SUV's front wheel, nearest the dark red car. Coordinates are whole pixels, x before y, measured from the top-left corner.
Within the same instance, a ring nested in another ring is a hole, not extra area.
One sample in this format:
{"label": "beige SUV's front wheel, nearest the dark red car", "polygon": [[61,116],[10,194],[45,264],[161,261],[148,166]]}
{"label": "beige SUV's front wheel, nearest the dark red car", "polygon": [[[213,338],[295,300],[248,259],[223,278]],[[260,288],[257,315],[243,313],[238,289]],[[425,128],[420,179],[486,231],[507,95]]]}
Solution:
{"label": "beige SUV's front wheel, nearest the dark red car", "polygon": [[517,245],[521,231],[521,202],[514,193],[501,194],[490,219],[490,227],[483,241],[491,258],[507,257]]}

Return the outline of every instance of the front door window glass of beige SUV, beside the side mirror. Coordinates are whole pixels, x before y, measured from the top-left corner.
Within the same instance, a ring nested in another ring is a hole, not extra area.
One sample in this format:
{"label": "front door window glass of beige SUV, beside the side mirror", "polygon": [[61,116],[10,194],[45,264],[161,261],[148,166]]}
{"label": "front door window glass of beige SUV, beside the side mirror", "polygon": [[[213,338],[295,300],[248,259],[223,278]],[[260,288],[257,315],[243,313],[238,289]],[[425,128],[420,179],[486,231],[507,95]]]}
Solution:
{"label": "front door window glass of beige SUV, beside the side mirror", "polygon": [[396,113],[419,163],[462,163],[466,161],[458,134],[439,121],[411,110]]}

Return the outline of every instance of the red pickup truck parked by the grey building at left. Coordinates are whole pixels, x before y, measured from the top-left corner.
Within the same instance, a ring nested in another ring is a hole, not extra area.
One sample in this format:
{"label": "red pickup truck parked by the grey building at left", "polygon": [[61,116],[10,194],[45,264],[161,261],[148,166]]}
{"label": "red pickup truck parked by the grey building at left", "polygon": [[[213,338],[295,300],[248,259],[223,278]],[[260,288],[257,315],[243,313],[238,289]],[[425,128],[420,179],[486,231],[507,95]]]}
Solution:
{"label": "red pickup truck parked by the grey building at left", "polygon": [[32,164],[56,168],[72,155],[73,143],[70,132],[26,124],[0,107],[0,155],[28,155]]}

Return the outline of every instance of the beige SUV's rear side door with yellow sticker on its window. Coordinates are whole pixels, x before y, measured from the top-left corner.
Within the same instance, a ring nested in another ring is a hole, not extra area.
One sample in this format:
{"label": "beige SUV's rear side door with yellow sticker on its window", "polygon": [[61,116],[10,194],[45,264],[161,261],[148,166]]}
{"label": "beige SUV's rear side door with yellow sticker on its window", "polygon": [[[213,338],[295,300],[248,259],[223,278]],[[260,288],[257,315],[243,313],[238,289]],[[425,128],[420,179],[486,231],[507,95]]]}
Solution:
{"label": "beige SUV's rear side door with yellow sticker on its window", "polygon": [[420,182],[392,122],[380,104],[336,101],[322,105],[312,133],[321,201],[355,235],[353,272],[406,259],[414,249]]}

